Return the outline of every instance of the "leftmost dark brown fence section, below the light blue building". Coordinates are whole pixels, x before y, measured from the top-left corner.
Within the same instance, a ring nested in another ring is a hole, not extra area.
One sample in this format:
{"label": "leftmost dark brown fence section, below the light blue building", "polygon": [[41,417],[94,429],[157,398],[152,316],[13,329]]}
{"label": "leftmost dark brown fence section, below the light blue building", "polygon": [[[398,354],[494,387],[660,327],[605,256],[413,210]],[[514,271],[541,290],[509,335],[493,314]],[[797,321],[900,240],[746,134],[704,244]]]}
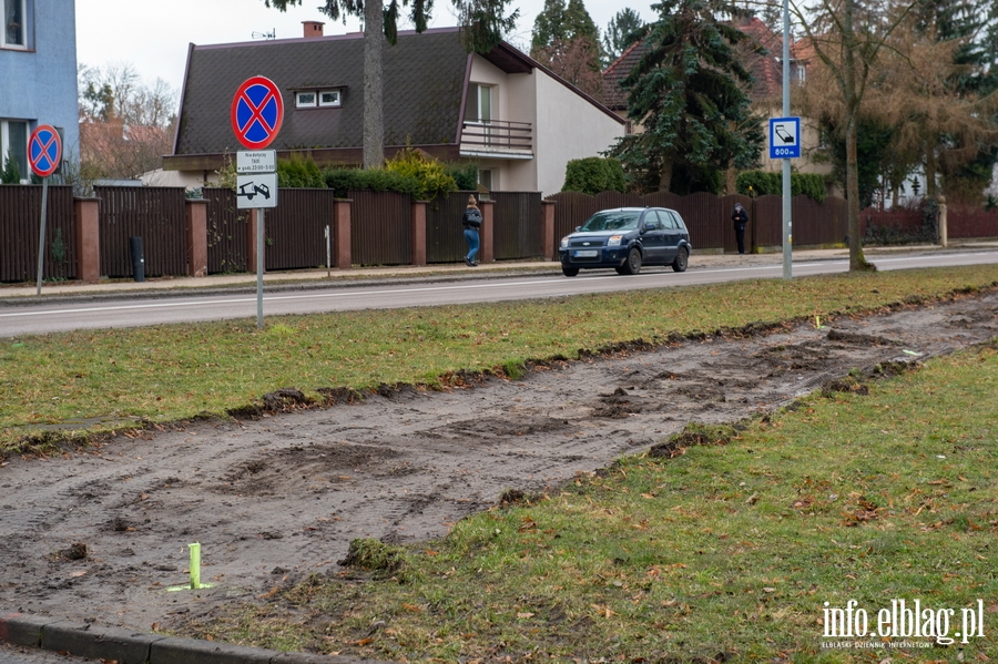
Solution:
{"label": "leftmost dark brown fence section, below the light blue building", "polygon": [[[0,185],[0,282],[33,282],[38,278],[41,203],[41,186]],[[44,246],[42,278],[72,279],[78,276],[71,186],[49,186]]]}

